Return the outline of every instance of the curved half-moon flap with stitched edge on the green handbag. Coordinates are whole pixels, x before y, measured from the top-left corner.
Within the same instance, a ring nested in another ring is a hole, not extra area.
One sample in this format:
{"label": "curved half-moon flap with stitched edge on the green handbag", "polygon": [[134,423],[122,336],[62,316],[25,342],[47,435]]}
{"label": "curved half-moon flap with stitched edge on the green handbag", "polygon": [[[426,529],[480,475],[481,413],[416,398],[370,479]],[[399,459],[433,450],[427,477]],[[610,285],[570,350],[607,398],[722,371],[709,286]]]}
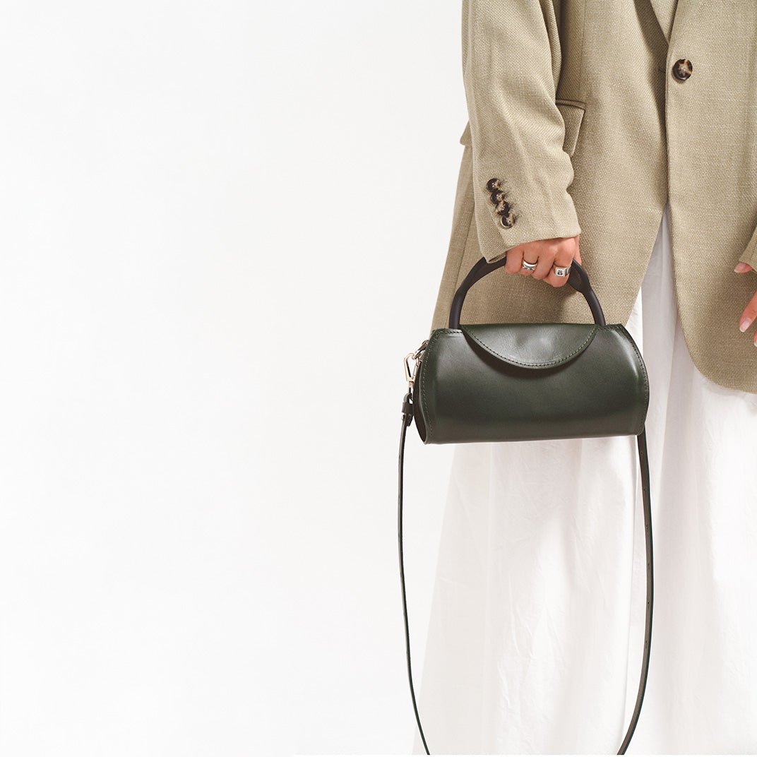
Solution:
{"label": "curved half-moon flap with stitched edge on the green handbag", "polygon": [[521,368],[554,368],[580,355],[597,333],[588,323],[481,323],[460,326],[489,354]]}

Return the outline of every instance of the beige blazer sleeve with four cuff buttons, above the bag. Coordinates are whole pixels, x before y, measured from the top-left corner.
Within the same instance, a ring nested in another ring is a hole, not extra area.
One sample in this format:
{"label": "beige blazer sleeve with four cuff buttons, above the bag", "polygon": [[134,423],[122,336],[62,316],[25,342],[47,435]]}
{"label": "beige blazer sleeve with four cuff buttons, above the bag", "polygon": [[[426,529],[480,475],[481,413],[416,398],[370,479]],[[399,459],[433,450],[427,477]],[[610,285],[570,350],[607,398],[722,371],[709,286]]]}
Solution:
{"label": "beige blazer sleeve with four cuff buttons, above the bag", "polygon": [[555,102],[562,60],[556,2],[463,0],[475,222],[488,260],[527,241],[581,232]]}

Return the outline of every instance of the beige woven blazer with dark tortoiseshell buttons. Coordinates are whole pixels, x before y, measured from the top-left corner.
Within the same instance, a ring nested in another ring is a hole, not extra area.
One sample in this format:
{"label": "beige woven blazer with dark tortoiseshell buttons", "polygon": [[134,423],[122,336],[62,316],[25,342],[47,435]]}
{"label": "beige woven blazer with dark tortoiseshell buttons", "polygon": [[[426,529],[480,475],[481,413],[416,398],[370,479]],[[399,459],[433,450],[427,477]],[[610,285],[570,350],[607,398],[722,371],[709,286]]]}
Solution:
{"label": "beige woven blazer with dark tortoiseshell buttons", "polygon": [[[757,276],[734,273],[740,260],[757,268],[757,2],[463,0],[463,79],[469,124],[433,328],[481,255],[579,233],[607,322],[625,323],[669,199],[693,362],[757,393],[753,329],[739,331]],[[503,271],[463,308],[463,322],[589,320],[581,295]]]}

